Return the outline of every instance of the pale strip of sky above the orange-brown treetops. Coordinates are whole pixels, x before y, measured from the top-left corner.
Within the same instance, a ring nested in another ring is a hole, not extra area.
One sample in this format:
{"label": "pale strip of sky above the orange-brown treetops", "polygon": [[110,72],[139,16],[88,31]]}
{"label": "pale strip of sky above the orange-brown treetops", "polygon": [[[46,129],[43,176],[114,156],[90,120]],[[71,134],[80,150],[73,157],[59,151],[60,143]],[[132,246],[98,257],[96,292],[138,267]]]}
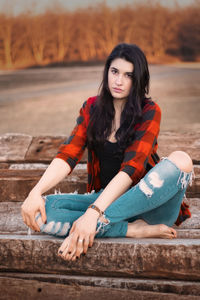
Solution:
{"label": "pale strip of sky above the orange-brown treetops", "polygon": [[[115,7],[118,5],[132,4],[134,2],[142,2],[138,0],[104,0],[108,6]],[[175,3],[179,5],[188,5],[195,0],[159,0],[160,3],[166,6],[173,6]],[[17,15],[21,12],[34,11],[41,13],[46,8],[56,7],[56,3],[61,3],[62,6],[69,10],[76,8],[87,7],[89,5],[95,5],[102,3],[103,0],[0,0],[0,11],[9,12]],[[152,2],[152,0],[150,1]]]}

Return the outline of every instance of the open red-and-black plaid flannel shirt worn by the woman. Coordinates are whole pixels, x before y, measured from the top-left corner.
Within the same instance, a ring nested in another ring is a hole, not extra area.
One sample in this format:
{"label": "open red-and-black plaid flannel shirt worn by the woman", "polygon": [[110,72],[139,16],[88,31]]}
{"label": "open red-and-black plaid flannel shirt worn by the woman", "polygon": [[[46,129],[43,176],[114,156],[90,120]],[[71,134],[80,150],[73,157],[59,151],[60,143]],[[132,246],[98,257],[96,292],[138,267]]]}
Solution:
{"label": "open red-and-black plaid flannel shirt worn by the woman", "polygon": [[[79,117],[76,121],[70,137],[60,146],[56,158],[61,158],[67,162],[71,171],[80,161],[87,145],[87,126],[89,124],[92,108],[97,97],[91,97],[84,102],[80,109]],[[157,137],[160,130],[161,111],[159,106],[152,100],[146,99],[143,107],[142,121],[135,125],[135,139],[125,150],[124,159],[120,171],[126,172],[133,181],[133,186],[137,184],[144,175],[159,162],[156,153],[158,144]],[[88,184],[87,191],[98,191],[100,184],[99,160],[94,151],[88,150]],[[183,205],[183,204],[182,204]],[[182,206],[181,206],[182,208]],[[183,213],[184,212],[184,213]],[[176,224],[179,225],[190,217],[188,209],[181,209]],[[181,218],[181,219],[180,219]]]}

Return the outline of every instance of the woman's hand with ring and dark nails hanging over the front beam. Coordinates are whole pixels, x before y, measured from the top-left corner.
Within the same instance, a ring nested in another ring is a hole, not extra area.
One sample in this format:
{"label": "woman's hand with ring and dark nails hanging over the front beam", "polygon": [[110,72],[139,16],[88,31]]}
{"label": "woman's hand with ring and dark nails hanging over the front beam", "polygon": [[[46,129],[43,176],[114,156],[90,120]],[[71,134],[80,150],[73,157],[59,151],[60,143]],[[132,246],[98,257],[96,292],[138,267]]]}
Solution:
{"label": "woman's hand with ring and dark nails hanging over the front beam", "polygon": [[69,236],[58,249],[58,255],[65,260],[76,260],[82,253],[86,254],[88,247],[92,247],[96,234],[99,214],[88,209],[78,218],[70,230]]}

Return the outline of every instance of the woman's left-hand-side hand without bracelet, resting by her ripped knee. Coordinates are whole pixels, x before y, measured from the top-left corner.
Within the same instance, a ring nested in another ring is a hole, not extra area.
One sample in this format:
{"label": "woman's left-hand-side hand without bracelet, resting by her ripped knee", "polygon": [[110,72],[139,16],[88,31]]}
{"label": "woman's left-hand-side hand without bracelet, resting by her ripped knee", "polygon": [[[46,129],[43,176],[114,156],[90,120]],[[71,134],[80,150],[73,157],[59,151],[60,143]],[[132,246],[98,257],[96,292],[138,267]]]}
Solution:
{"label": "woman's left-hand-side hand without bracelet, resting by her ripped knee", "polygon": [[32,230],[40,231],[35,221],[36,214],[40,212],[43,223],[46,222],[45,203],[41,194],[37,191],[31,191],[21,206],[21,215],[24,223]]}

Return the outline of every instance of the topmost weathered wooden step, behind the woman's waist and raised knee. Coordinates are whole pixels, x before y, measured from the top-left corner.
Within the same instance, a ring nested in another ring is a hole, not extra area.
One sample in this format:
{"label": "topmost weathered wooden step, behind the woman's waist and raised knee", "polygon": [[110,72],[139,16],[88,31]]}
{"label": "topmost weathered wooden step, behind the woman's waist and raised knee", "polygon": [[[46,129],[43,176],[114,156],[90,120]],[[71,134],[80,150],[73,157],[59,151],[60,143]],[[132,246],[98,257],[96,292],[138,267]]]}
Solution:
{"label": "topmost weathered wooden step, behind the woman's waist and raised knee", "polygon": [[[65,136],[37,136],[25,134],[4,134],[0,136],[1,162],[50,162],[56,155]],[[158,138],[160,156],[168,156],[172,151],[186,151],[195,163],[200,163],[200,133],[161,132]],[[86,160],[86,154],[83,161]]]}

